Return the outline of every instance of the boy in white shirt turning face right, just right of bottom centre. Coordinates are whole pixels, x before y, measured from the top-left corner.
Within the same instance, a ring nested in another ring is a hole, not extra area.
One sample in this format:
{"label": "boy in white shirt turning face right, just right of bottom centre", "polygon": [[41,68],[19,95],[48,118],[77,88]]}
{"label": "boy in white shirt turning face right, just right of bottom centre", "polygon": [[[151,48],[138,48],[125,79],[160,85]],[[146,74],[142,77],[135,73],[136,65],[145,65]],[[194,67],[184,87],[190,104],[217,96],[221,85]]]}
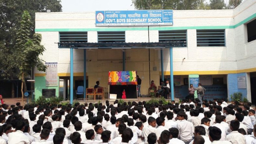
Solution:
{"label": "boy in white shirt turning face right, just right of bottom centre", "polygon": [[143,140],[145,138],[145,141],[147,141],[147,136],[150,133],[157,133],[156,125],[156,119],[150,116],[148,118],[148,126],[143,127],[141,139]]}

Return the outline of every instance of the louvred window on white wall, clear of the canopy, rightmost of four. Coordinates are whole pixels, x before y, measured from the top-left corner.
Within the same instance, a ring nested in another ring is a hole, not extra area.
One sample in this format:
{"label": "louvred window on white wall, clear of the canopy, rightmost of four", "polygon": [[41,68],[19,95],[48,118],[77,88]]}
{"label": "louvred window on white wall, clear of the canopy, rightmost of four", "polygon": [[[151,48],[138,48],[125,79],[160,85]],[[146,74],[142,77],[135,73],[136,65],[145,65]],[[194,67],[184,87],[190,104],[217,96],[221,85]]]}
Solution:
{"label": "louvred window on white wall, clear of the canopy, rightmost of four", "polygon": [[225,29],[198,29],[196,43],[198,47],[225,47]]}

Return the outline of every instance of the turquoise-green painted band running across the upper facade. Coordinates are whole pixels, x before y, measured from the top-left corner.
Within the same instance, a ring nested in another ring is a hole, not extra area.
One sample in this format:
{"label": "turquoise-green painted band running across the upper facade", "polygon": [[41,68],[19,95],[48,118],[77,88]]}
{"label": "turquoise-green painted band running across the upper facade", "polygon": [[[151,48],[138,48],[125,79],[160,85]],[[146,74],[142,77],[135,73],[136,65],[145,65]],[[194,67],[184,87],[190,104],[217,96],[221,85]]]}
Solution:
{"label": "turquoise-green painted band running across the upper facade", "polygon": [[[227,29],[237,28],[238,26],[250,21],[256,17],[256,13],[240,21],[236,25],[231,26],[188,26],[188,27],[159,27],[150,26],[149,30],[183,30],[183,29]],[[125,30],[148,30],[145,27],[132,27],[132,28],[36,28],[35,32],[43,31],[125,31]]]}

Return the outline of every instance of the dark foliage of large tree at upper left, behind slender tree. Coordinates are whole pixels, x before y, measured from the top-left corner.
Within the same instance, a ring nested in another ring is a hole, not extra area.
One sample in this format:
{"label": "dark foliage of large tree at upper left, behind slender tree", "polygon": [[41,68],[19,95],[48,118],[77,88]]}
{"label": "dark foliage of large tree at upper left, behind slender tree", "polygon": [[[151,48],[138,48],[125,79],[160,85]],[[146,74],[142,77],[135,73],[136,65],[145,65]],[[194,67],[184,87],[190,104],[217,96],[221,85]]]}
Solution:
{"label": "dark foliage of large tree at upper left, behind slender tree", "polygon": [[[29,31],[25,35],[32,36],[35,32],[35,12],[62,11],[60,0],[0,0],[0,68],[1,76],[12,79],[17,70],[16,33],[24,10],[29,12]],[[22,36],[25,37],[25,36]],[[21,38],[22,38],[21,37]]]}

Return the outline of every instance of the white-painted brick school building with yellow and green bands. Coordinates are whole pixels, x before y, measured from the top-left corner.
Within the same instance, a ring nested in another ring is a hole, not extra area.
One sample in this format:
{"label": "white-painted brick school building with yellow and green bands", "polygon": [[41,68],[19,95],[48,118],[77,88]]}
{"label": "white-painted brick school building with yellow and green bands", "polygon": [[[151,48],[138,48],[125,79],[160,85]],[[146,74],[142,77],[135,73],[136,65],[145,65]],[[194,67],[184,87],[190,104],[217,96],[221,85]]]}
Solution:
{"label": "white-painted brick school building with yellow and green bands", "polygon": [[[161,68],[164,78],[170,79],[173,64],[176,98],[188,95],[189,74],[199,74],[199,82],[207,89],[205,99],[231,100],[230,94],[241,92],[242,100],[247,98],[256,103],[255,0],[245,0],[232,10],[173,10],[173,25],[168,26],[96,26],[95,13],[36,13],[35,32],[42,35],[41,44],[46,48],[40,58],[49,66],[46,72],[35,69],[36,98],[47,89],[55,89],[56,96],[68,98],[71,66],[74,95],[77,86],[84,85],[84,73],[86,87],[99,81],[108,92],[109,71],[122,70],[137,71],[142,79],[141,94],[146,95],[150,81],[160,85]],[[168,48],[91,48],[86,52],[72,49],[72,58],[70,48],[59,48],[58,42],[182,42],[183,45],[172,48],[170,63]]]}

